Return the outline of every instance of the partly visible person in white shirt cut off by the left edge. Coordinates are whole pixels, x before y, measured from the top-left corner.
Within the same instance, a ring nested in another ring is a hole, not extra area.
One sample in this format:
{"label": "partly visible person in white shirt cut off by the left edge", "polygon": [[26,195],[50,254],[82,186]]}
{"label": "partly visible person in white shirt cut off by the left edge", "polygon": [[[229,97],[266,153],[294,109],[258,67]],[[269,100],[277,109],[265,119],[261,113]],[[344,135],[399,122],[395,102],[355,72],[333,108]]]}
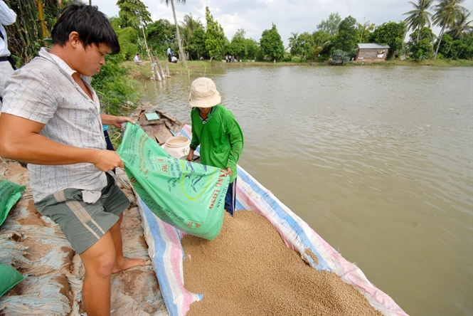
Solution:
{"label": "partly visible person in white shirt cut off by the left edge", "polygon": [[16,21],[16,13],[0,0],[0,97],[4,96],[6,78],[14,72],[15,62],[11,58],[9,44],[6,38],[4,25],[11,25]]}

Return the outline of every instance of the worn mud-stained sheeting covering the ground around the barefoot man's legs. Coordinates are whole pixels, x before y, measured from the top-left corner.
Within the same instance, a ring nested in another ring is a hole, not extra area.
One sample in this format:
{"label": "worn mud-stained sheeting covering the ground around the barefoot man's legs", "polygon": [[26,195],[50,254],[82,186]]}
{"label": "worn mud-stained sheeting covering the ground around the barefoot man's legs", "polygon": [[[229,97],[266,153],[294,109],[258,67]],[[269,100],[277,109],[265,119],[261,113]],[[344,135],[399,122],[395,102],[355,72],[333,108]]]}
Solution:
{"label": "worn mud-stained sheeting covering the ground around the barefoot man's legs", "polygon": [[[0,160],[0,177],[26,186],[0,227],[0,262],[27,275],[0,297],[0,315],[85,315],[82,261],[59,227],[36,211],[28,169]],[[169,316],[148,256],[134,191],[119,168],[117,184],[131,201],[122,222],[124,255],[142,258],[146,265],[112,275],[110,315]]]}

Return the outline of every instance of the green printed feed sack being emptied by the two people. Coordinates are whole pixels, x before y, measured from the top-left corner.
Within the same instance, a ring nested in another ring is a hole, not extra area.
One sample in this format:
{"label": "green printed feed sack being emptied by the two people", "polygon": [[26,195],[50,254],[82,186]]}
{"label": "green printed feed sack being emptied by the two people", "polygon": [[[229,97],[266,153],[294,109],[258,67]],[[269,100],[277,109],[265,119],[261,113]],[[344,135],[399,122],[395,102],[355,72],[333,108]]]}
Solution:
{"label": "green printed feed sack being emptied by the two people", "polygon": [[162,221],[209,241],[218,236],[229,181],[220,168],[171,157],[129,122],[117,152],[134,189]]}

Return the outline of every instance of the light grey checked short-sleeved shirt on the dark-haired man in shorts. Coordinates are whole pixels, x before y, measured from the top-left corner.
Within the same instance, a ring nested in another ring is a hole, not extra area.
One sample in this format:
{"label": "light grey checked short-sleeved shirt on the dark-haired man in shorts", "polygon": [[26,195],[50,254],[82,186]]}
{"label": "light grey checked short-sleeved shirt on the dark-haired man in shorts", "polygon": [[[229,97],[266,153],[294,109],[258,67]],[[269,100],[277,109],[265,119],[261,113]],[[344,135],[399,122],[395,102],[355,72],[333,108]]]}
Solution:
{"label": "light grey checked short-sleeved shirt on the dark-haired man in shorts", "polygon": [[[81,76],[92,99],[75,83],[72,70],[62,59],[41,48],[6,81],[1,112],[44,124],[41,135],[74,147],[106,149],[100,120],[100,102],[90,86],[92,78]],[[33,200],[41,201],[57,191],[75,188],[97,191],[107,177],[93,164],[28,164]]]}

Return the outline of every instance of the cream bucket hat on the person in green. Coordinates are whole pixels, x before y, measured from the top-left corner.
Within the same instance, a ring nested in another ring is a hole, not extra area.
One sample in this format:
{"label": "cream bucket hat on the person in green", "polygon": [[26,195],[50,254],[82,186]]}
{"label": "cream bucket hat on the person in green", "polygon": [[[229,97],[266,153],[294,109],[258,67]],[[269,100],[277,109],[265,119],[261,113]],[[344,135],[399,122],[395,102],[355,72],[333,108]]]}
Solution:
{"label": "cream bucket hat on the person in green", "polygon": [[189,94],[189,103],[192,107],[213,107],[221,100],[220,93],[210,78],[202,77],[193,80]]}

